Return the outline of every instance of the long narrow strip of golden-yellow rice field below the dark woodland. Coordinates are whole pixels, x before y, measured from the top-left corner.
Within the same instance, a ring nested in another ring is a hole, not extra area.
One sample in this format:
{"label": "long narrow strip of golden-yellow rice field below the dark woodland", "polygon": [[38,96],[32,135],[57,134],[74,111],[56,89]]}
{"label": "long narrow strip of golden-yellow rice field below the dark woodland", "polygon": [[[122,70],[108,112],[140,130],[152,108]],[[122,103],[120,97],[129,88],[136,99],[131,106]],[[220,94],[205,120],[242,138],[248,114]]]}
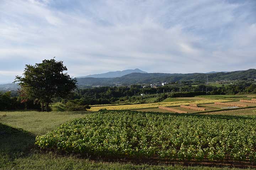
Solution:
{"label": "long narrow strip of golden-yellow rice field below the dark woodland", "polygon": [[179,102],[159,102],[159,103],[143,103],[143,104],[126,104],[126,105],[112,105],[112,106],[93,106],[89,111],[98,111],[100,109],[108,110],[129,110],[129,109],[146,109],[158,108],[158,106],[180,106],[189,104],[204,104],[214,102],[228,102],[230,100],[196,100],[196,101],[179,101]]}

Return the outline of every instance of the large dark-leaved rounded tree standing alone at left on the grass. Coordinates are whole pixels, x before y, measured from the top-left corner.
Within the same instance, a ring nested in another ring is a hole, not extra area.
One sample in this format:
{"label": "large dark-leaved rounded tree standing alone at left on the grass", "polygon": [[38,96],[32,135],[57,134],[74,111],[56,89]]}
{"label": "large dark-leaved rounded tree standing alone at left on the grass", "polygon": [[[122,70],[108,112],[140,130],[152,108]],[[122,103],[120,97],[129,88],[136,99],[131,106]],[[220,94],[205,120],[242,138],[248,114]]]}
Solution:
{"label": "large dark-leaved rounded tree standing alone at left on the grass", "polygon": [[26,65],[23,77],[16,76],[14,83],[18,82],[21,87],[20,96],[41,103],[42,112],[45,105],[48,112],[51,98],[65,98],[76,88],[76,79],[64,73],[66,70],[63,61],[43,60],[34,66]]}

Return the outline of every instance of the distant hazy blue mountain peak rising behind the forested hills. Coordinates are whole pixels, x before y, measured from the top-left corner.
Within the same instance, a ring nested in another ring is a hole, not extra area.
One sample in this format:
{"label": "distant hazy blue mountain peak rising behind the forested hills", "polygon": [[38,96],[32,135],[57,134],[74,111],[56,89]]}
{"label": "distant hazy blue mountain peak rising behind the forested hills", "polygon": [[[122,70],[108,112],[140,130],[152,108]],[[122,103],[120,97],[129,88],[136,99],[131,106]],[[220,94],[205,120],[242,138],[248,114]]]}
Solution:
{"label": "distant hazy blue mountain peak rising behind the forested hills", "polygon": [[129,69],[129,70],[123,70],[123,71],[116,71],[116,72],[107,72],[107,73],[102,73],[102,74],[90,74],[87,76],[83,77],[77,77],[77,78],[86,78],[86,77],[91,77],[91,78],[115,78],[115,77],[122,77],[124,75],[130,74],[130,73],[147,73],[144,72],[138,68]]}

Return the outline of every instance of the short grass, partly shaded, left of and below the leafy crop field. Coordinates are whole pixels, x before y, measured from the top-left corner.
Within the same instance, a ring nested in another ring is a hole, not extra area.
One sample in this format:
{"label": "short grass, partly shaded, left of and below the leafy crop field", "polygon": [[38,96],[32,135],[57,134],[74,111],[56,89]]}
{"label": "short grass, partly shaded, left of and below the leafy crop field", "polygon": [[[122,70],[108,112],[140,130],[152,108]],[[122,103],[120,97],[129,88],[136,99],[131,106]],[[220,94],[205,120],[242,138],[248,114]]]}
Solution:
{"label": "short grass, partly shaded, left of and below the leafy crop field", "polygon": [[[56,129],[60,124],[91,112],[0,112],[0,170],[224,170],[184,165],[151,165],[92,161],[78,155],[59,155],[41,151],[35,137]],[[22,129],[19,129],[22,128]]]}

